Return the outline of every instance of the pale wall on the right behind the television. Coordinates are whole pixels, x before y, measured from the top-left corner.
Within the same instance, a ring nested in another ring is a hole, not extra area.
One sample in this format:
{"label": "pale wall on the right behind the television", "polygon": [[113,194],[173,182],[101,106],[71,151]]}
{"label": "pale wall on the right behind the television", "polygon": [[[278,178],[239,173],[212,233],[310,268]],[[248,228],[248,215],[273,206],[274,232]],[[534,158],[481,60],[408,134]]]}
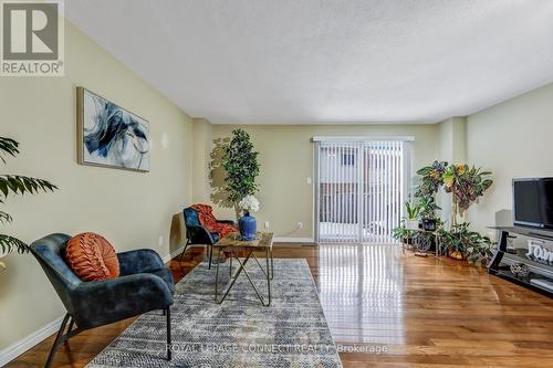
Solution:
{"label": "pale wall on the right behind the television", "polygon": [[468,212],[477,229],[512,224],[511,213],[504,213],[512,211],[511,180],[553,176],[552,141],[553,84],[468,117],[468,161],[493,171],[495,180]]}

